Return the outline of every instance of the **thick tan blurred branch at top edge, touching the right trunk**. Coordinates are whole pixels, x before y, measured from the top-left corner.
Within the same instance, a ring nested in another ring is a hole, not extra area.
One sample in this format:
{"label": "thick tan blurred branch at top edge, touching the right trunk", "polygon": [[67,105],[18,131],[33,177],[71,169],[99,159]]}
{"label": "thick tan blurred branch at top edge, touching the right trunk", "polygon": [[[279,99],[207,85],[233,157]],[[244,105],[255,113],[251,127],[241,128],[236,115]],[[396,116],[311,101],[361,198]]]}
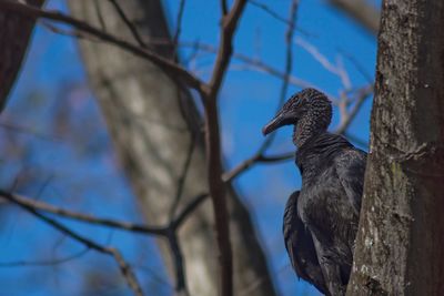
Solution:
{"label": "thick tan blurred branch at top edge, touching the right trunk", "polygon": [[381,11],[366,0],[329,0],[329,3],[343,10],[373,34],[380,30]]}

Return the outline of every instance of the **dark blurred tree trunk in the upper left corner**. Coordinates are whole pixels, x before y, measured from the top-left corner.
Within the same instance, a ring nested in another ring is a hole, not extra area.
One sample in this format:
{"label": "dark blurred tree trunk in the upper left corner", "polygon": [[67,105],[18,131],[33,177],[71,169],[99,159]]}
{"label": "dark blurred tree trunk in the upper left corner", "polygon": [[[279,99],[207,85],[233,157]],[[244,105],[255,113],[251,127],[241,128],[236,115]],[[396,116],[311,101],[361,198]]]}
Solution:
{"label": "dark blurred tree trunk in the upper left corner", "polygon": [[[41,7],[44,0],[24,2]],[[33,28],[34,21],[16,13],[0,11],[0,112],[20,71]]]}

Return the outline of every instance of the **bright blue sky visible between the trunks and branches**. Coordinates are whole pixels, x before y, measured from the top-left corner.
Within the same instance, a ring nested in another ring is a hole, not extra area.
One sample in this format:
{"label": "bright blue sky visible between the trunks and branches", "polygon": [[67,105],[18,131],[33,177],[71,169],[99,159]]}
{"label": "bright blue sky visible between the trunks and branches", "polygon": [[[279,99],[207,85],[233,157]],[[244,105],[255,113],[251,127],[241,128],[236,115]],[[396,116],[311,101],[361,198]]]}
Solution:
{"label": "bright blue sky visible between the trunks and branches", "polygon": [[[172,29],[175,28],[178,2],[165,1]],[[262,3],[271,7],[280,16],[287,14],[287,0],[269,0]],[[49,7],[65,10],[61,0],[49,1]],[[219,16],[219,1],[186,1],[181,40],[216,44]],[[332,62],[342,59],[353,86],[363,86],[367,81],[345,55],[353,57],[365,72],[373,76],[375,37],[342,12],[326,6],[325,1],[301,1],[296,28],[303,32],[296,30],[295,38],[310,42]],[[249,4],[235,35],[235,51],[283,69],[284,33],[283,23]],[[186,59],[188,55],[188,50],[181,51],[182,59]],[[208,78],[213,61],[214,57],[206,54],[195,61],[193,67],[203,78]],[[264,140],[261,127],[275,112],[281,86],[281,81],[275,78],[240,68],[242,64],[233,60],[220,95],[223,150],[228,169],[251,156]],[[332,95],[337,95],[342,89],[336,75],[327,72],[297,45],[294,45],[292,74],[310,81]],[[287,95],[297,90],[293,85],[290,86]],[[94,129],[90,130],[88,135],[78,135],[70,134],[67,127],[53,136],[54,121],[50,119],[60,110],[60,104],[67,104],[63,106],[72,113],[67,120],[70,129],[84,130],[84,124]],[[370,108],[371,100],[367,100],[350,129],[351,133],[364,141],[369,139]],[[335,114],[333,126],[337,123],[337,110]],[[42,140],[29,133],[16,135],[14,141],[27,151],[27,160],[23,160],[23,154],[18,154],[17,159],[11,157],[2,162],[2,187],[11,187],[18,176],[28,174],[32,185],[26,186],[23,181],[24,185],[19,186],[22,193],[36,196],[41,192],[46,201],[54,204],[70,203],[79,211],[88,211],[99,216],[141,221],[137,205],[128,202],[132,200],[131,188],[119,166],[112,161],[115,155],[100,110],[88,89],[74,40],[56,35],[40,25],[37,28],[22,74],[0,122],[26,126],[33,133],[49,135],[51,139]],[[84,141],[81,147],[73,144],[79,136]],[[6,145],[6,141],[8,139],[3,137],[2,146]],[[294,151],[290,127],[280,131],[270,153],[287,151]],[[6,155],[9,154],[3,154],[0,159],[4,159]],[[281,234],[285,201],[300,183],[299,171],[291,161],[255,166],[234,182],[243,201],[252,211],[262,244],[268,252],[276,287],[282,295],[317,295],[310,285],[295,279],[289,267]],[[107,198],[105,208],[102,206],[103,198]],[[6,207],[1,214],[0,263],[49,258],[54,254],[54,248],[60,256],[82,249],[80,245],[67,242],[69,239],[61,238],[28,214],[11,207]],[[138,276],[144,279],[144,287],[155,289],[157,293],[152,295],[171,294],[171,283],[161,268],[160,261],[148,255],[157,253],[152,239],[73,222],[65,223],[99,242],[111,242],[121,247],[130,262],[145,262],[143,268],[138,269]],[[141,251],[141,244],[148,247]],[[57,273],[48,273],[48,269],[56,267],[2,267],[0,295],[60,295],[58,287],[63,287],[63,295],[79,295],[82,293],[80,284],[87,280],[82,276],[83,271],[94,269],[94,266],[110,266],[113,276],[119,276],[109,258],[89,252],[77,261],[58,265]],[[114,290],[102,293],[125,295],[128,290],[120,283]]]}

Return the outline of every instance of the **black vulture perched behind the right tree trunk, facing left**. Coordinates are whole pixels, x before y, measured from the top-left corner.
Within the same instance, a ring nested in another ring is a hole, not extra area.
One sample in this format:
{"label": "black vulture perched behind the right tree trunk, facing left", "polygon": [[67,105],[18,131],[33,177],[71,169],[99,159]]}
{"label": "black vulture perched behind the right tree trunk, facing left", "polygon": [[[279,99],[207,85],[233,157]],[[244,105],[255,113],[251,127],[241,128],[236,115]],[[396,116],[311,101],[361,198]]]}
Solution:
{"label": "black vulture perched behind the right tree trunk, facing left", "polygon": [[287,200],[283,234],[296,275],[321,293],[345,295],[363,194],[366,152],[327,131],[332,102],[315,89],[293,94],[263,127],[294,125],[300,191]]}

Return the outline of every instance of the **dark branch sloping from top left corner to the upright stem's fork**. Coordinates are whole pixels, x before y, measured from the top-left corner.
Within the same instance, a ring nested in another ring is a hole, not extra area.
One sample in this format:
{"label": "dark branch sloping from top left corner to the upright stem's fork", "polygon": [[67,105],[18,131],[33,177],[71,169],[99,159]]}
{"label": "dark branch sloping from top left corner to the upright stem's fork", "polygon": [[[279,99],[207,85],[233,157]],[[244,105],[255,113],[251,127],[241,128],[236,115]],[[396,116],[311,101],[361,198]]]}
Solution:
{"label": "dark branch sloping from top left corner to the upright stem's fork", "polygon": [[114,44],[114,45],[117,45],[123,50],[127,50],[138,57],[141,57],[143,59],[151,61],[152,63],[158,65],[160,69],[162,69],[167,75],[170,75],[173,78],[180,78],[190,88],[196,90],[198,92],[202,92],[203,89],[205,88],[205,85],[202,81],[200,81],[196,76],[191,74],[189,71],[186,71],[179,64],[176,64],[168,59],[164,59],[148,49],[143,49],[138,45],[133,45],[132,43],[127,42],[125,40],[122,40],[114,35],[111,35],[111,34],[109,34],[100,29],[97,29],[81,20],[71,18],[59,11],[42,10],[42,9],[38,9],[38,8],[34,8],[31,6],[22,4],[19,2],[12,2],[9,0],[0,1],[0,11],[1,10],[16,12],[16,13],[19,13],[22,16],[27,16],[31,19],[43,18],[43,19],[49,19],[52,21],[62,22],[62,23],[72,25],[77,30],[87,32],[91,35],[99,38],[102,41]]}

